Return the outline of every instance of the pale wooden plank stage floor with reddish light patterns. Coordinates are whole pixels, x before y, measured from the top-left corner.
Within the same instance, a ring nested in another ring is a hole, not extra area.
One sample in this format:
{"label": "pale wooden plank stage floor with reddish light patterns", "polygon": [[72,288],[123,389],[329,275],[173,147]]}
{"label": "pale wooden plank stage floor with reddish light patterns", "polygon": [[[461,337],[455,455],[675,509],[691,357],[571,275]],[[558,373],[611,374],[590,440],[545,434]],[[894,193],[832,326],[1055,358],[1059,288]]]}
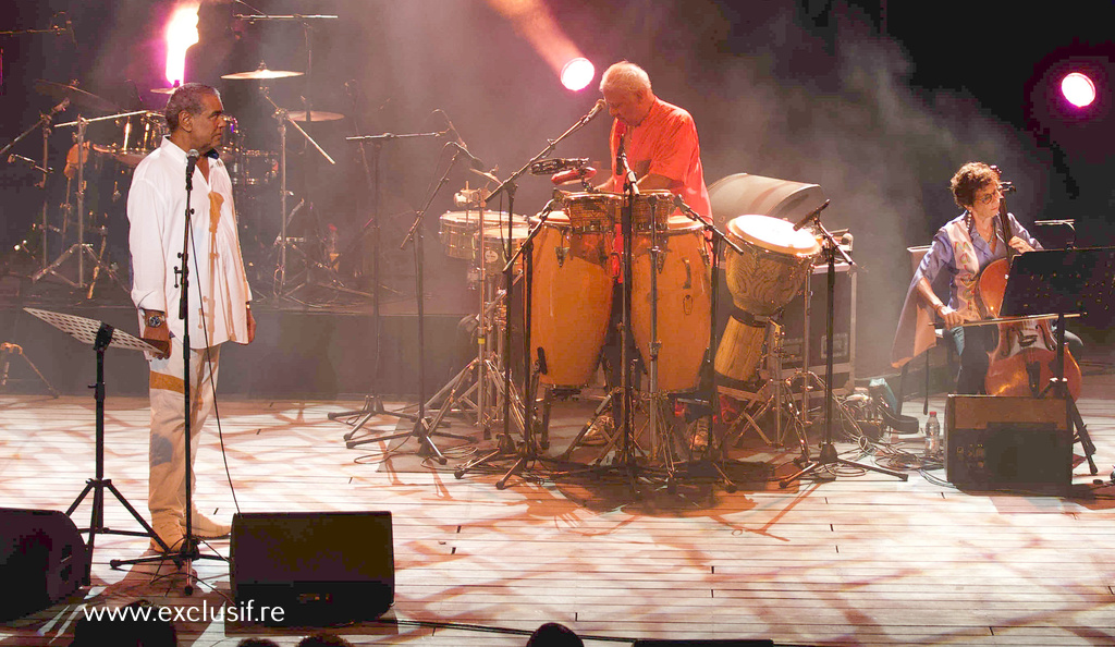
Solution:
{"label": "pale wooden plank stage floor with reddish light patterns", "polygon": [[[411,461],[410,469],[392,469],[396,461],[384,463],[375,447],[346,448],[348,427],[327,414],[361,403],[230,399],[221,413],[241,511],[391,512],[395,606],[379,622],[330,629],[355,644],[524,645],[535,627],[558,621],[586,645],[1115,645],[1113,382],[1101,375],[1086,384],[1079,407],[1099,474],[1077,465],[1067,496],[961,492],[943,483],[943,471],[917,469],[906,482],[842,470],[836,480],[785,490],[753,481],[734,493],[682,480],[675,493],[644,486],[636,498],[622,483],[588,479],[513,479],[501,491],[496,475],[453,474],[475,447],[454,448],[444,467]],[[920,417],[918,404],[906,413]],[[583,414],[562,413],[565,406],[556,407],[555,428],[575,429]],[[943,398],[932,406],[943,412]],[[91,396],[0,396],[0,505],[66,510],[94,472]],[[387,417],[374,422],[395,428]],[[145,399],[110,398],[106,427],[106,476],[146,513]],[[462,424],[452,431],[475,433]],[[555,451],[562,442],[555,436]],[[902,445],[922,447],[913,435]],[[778,475],[794,470],[793,451],[765,456]],[[197,473],[198,508],[229,520],[236,504],[212,424]],[[84,527],[88,504],[75,514]],[[133,527],[113,500],[106,519]],[[213,607],[231,598],[222,561],[194,563],[201,583],[192,597],[173,568],[109,567],[143,554],[146,543],[98,537],[94,585],[0,625],[0,647],[68,645],[85,606],[145,598]],[[229,542],[212,548],[227,554]],[[216,620],[177,628],[181,645],[198,647],[249,636],[294,645],[310,632]]]}

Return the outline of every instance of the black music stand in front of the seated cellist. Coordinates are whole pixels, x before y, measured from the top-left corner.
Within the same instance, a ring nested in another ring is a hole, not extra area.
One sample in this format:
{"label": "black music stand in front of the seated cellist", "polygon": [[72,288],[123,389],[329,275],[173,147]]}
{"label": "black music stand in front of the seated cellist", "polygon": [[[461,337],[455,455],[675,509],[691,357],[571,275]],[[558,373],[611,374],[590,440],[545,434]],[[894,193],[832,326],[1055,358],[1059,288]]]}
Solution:
{"label": "black music stand in front of the seated cellist", "polygon": [[1066,428],[1074,429],[1074,444],[1080,443],[1088,469],[1096,474],[1092,455],[1096,446],[1088,436],[1084,418],[1068,393],[1065,380],[1065,317],[1079,316],[1095,321],[1106,311],[1115,291],[1115,248],[1043,250],[1015,258],[1004,289],[1000,317],[1057,316],[1057,375],[1039,394],[1051,392],[1064,398]]}

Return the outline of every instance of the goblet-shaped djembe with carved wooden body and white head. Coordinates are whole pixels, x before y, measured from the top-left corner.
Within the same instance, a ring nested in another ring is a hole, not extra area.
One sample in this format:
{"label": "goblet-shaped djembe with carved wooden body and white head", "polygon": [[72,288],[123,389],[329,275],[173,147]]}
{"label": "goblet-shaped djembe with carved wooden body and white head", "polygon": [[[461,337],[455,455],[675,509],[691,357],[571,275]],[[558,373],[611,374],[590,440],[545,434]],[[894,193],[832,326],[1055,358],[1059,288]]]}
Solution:
{"label": "goblet-shaped djembe with carved wooden body and white head", "polygon": [[716,350],[716,373],[729,386],[755,378],[763,358],[766,320],[802,290],[821,244],[809,230],[785,220],[740,215],[728,236],[743,253],[726,252],[725,277],[735,306]]}

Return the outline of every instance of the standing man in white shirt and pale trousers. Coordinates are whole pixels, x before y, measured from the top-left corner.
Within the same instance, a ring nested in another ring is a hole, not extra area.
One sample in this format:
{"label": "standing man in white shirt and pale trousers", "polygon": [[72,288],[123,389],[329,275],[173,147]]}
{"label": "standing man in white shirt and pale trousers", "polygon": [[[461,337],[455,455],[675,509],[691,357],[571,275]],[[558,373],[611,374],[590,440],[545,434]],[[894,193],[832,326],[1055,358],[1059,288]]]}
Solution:
{"label": "standing man in white shirt and pale trousers", "polygon": [[[187,157],[191,175],[188,242],[191,460],[213,408],[220,347],[255,337],[251,289],[240,251],[232,180],[217,156],[225,126],[214,88],[186,84],[164,110],[169,136],[136,166],[128,193],[132,300],[142,337],[162,348],[151,365],[151,475],[148,508],[163,542],[180,547],[185,535],[185,415],[183,337],[180,318],[183,241],[186,238]],[[193,465],[190,466],[193,475]],[[191,479],[191,489],[193,479]],[[193,490],[191,490],[193,492]],[[216,539],[230,527],[192,513],[193,534]],[[158,543],[152,540],[152,547]]]}

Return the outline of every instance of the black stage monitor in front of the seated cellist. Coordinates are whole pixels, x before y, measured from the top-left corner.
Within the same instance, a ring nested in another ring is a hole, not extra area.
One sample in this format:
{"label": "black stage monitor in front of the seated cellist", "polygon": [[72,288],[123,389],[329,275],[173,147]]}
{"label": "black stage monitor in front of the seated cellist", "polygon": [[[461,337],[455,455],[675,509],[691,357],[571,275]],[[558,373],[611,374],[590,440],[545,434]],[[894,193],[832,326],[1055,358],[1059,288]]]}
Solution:
{"label": "black stage monitor in front of the seated cellist", "polygon": [[950,395],[944,472],[972,490],[1058,493],[1073,483],[1073,432],[1064,399]]}

